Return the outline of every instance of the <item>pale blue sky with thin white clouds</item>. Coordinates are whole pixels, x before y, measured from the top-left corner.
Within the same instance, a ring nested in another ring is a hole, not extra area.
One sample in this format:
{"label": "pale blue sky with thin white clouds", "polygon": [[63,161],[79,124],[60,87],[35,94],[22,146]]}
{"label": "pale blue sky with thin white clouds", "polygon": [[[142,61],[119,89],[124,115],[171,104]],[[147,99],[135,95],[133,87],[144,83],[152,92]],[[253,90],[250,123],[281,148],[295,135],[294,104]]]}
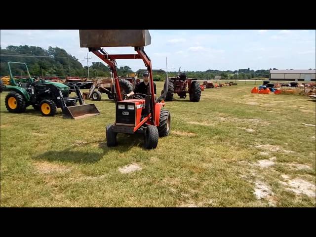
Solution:
{"label": "pale blue sky with thin white clouds", "polygon": [[[316,68],[315,30],[149,30],[145,47],[153,69],[205,71]],[[1,30],[0,46],[30,45],[64,48],[87,65],[87,48],[80,48],[79,30]],[[111,54],[134,54],[133,47],[105,48]],[[91,62],[102,62],[88,52]],[[166,64],[167,59],[167,64]],[[133,71],[145,69],[141,59],[117,60]]]}

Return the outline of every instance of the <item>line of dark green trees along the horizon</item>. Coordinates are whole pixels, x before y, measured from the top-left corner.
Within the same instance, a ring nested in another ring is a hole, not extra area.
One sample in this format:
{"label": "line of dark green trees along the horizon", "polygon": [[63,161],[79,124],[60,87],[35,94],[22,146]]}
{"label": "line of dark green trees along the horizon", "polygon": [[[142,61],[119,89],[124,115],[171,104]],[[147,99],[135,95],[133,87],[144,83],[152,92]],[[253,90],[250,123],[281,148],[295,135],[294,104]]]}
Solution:
{"label": "line of dark green trees along the horizon", "polygon": [[[29,45],[9,45],[5,49],[0,48],[0,75],[8,76],[9,69],[7,62],[24,62],[28,65],[32,77],[88,77],[87,66],[82,66],[75,56],[72,56],[65,49],[51,47],[44,49],[37,46]],[[11,55],[11,56],[6,56]],[[13,55],[13,56],[12,56]],[[16,56],[15,56],[16,55]],[[21,55],[32,55],[33,57],[21,57]],[[275,68],[274,68],[275,69]],[[271,70],[271,69],[270,69]],[[12,68],[12,74],[19,76],[21,69]],[[128,66],[117,68],[118,76],[125,77],[133,73]],[[214,79],[215,76],[221,76],[221,79],[252,79],[252,78],[269,78],[269,70],[250,70],[239,69],[235,71],[227,70],[206,70],[206,71],[189,71],[186,72],[189,78]],[[178,72],[168,72],[168,76],[176,76]],[[92,62],[89,66],[90,77],[109,77],[110,70],[107,65],[101,62]],[[142,77],[141,75],[139,75]],[[154,72],[154,80],[165,80],[165,73]]]}

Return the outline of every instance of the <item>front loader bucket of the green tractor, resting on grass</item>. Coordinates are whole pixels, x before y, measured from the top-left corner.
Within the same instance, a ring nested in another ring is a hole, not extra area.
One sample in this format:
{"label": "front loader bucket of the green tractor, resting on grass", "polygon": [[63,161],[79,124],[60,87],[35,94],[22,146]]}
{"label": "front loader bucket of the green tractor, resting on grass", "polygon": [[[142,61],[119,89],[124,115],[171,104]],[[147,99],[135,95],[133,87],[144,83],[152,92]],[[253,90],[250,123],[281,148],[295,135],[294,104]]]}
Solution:
{"label": "front loader bucket of the green tractor, resting on grass", "polygon": [[67,107],[67,111],[68,115],[74,119],[86,118],[100,114],[94,104],[69,106]]}

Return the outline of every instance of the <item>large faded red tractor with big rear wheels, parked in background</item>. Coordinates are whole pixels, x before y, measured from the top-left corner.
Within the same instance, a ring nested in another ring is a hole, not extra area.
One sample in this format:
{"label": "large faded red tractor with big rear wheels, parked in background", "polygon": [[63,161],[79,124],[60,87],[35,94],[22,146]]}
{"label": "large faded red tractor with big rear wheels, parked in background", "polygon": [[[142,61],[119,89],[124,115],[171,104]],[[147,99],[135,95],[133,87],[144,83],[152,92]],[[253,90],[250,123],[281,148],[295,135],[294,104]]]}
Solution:
{"label": "large faded red tractor with big rear wheels, parked in background", "polygon": [[[168,78],[166,101],[172,101],[173,94],[177,93],[180,98],[185,99],[187,93],[190,95],[190,101],[198,102],[201,97],[201,87],[195,78],[188,78],[186,73],[181,73],[181,67],[177,77]],[[166,86],[166,84],[165,84]],[[161,91],[161,94],[164,90]]]}

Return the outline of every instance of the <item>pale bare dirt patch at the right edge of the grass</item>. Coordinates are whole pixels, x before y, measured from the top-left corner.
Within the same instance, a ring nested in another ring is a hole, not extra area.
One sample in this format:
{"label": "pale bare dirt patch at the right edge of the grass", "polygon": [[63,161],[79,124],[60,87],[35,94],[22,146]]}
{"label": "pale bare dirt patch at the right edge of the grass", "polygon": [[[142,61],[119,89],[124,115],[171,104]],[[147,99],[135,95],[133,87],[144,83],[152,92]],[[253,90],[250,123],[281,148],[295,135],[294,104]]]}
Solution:
{"label": "pale bare dirt patch at the right edge of the grass", "polygon": [[291,191],[297,195],[305,194],[308,197],[315,198],[316,197],[316,186],[304,179],[295,178],[290,180],[287,175],[281,175],[286,182],[279,181],[282,185],[288,187],[286,190]]}

